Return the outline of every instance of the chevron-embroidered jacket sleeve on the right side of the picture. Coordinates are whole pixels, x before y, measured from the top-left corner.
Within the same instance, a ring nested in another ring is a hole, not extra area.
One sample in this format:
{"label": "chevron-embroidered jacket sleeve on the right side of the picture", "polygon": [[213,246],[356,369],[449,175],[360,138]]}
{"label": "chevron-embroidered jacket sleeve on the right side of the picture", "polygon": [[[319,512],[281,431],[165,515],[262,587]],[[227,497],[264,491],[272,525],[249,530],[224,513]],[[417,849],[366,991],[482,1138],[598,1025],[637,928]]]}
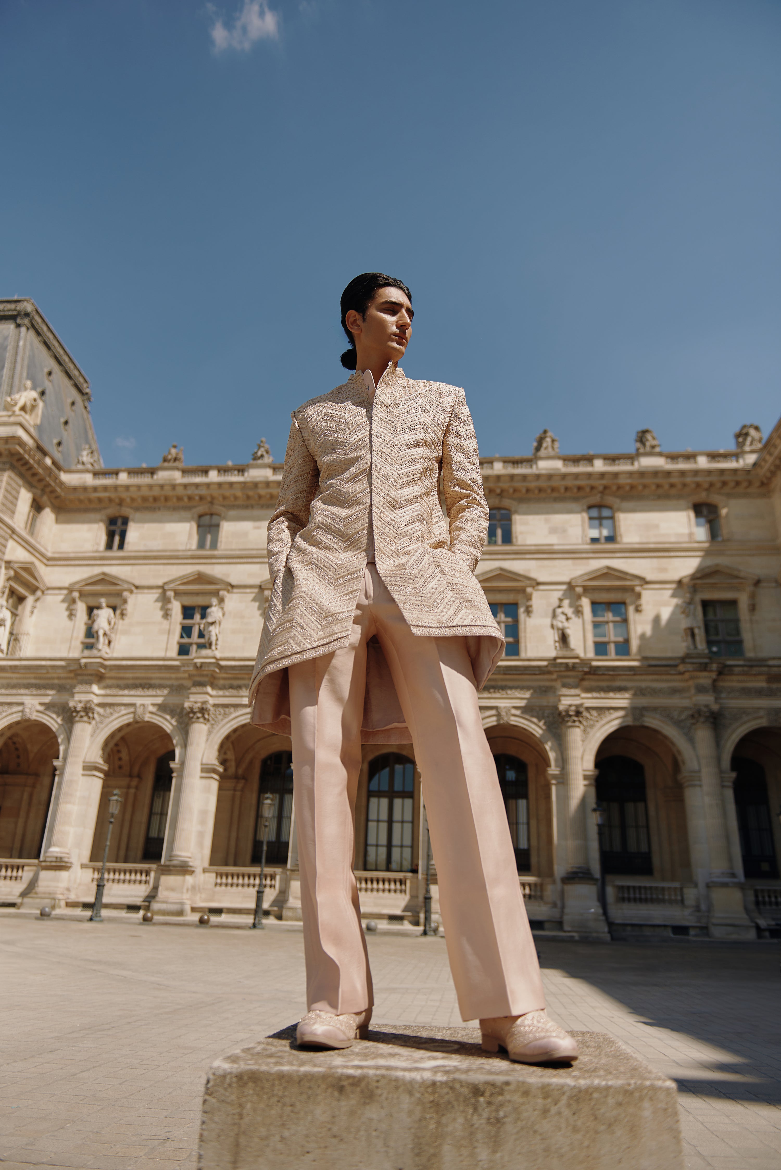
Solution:
{"label": "chevron-embroidered jacket sleeve on the right side of the picture", "polygon": [[442,440],[442,480],[450,524],[450,551],[475,572],[488,536],[489,510],[477,436],[463,390],[456,395]]}

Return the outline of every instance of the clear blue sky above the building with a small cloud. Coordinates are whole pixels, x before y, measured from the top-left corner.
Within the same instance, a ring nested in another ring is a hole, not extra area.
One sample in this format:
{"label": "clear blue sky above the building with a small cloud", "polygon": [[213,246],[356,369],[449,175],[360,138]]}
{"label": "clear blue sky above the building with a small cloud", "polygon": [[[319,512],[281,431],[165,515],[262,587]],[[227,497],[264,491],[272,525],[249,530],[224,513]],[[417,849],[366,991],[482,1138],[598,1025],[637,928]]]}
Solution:
{"label": "clear blue sky above the building with a small cloud", "polygon": [[0,0],[0,295],[106,466],[282,457],[369,269],[483,454],[781,413],[775,0]]}

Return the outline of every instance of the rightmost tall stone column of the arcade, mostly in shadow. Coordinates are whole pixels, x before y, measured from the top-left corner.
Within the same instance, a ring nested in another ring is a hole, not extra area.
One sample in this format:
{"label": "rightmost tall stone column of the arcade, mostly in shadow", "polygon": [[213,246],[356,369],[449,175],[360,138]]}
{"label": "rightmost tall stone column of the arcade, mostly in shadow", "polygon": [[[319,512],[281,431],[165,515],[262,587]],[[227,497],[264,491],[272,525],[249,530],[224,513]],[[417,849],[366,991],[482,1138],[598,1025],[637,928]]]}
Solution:
{"label": "rightmost tall stone column of the arcade, mostly in shadow", "polygon": [[744,906],[742,886],[732,868],[730,855],[716,739],[716,708],[696,707],[691,713],[691,722],[699,757],[710,860],[707,931],[712,938],[755,938],[756,931]]}

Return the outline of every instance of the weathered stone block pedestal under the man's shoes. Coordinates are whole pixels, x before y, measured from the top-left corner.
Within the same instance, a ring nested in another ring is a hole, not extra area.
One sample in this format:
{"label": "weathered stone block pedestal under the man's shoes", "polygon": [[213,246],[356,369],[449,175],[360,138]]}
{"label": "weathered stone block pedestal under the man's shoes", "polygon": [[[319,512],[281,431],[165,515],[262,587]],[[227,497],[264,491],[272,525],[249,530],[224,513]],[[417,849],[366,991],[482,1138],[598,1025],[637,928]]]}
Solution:
{"label": "weathered stone block pedestal under the man's shoes", "polygon": [[395,1026],[341,1052],[295,1028],[217,1060],[200,1170],[682,1170],[677,1089],[608,1035],[572,1066],[491,1057],[476,1028]]}

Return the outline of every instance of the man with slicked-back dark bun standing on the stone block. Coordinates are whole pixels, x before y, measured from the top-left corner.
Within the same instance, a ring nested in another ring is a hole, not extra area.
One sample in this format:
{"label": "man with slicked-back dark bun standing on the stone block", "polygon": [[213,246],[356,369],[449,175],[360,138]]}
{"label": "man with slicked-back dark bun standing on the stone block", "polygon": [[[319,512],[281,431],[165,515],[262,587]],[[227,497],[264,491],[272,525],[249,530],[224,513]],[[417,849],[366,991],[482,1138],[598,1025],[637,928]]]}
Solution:
{"label": "man with slicked-back dark bun standing on the stone block", "polygon": [[[366,1035],[372,982],[353,873],[361,741],[412,739],[458,1004],[483,1047],[572,1059],[547,1019],[477,687],[504,641],[474,570],[488,505],[463,390],[412,381],[409,290],[345,289],[354,373],[292,414],[253,722],[292,739],[307,1013],[298,1042]],[[438,496],[438,482],[447,517]]]}

